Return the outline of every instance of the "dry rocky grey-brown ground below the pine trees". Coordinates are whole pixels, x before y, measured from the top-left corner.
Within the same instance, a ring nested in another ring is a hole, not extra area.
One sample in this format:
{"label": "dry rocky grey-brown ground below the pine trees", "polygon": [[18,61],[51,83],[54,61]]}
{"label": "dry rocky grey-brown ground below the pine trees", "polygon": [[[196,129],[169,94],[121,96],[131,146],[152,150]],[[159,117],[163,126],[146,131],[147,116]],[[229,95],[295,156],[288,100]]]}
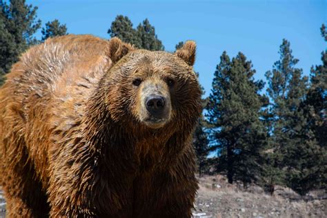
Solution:
{"label": "dry rocky grey-brown ground below the pine trees", "polygon": [[[258,186],[244,190],[230,185],[220,175],[199,179],[194,218],[228,217],[327,217],[326,191],[310,192],[305,199],[288,188],[277,187],[274,196]],[[0,190],[0,217],[5,217],[6,203]]]}

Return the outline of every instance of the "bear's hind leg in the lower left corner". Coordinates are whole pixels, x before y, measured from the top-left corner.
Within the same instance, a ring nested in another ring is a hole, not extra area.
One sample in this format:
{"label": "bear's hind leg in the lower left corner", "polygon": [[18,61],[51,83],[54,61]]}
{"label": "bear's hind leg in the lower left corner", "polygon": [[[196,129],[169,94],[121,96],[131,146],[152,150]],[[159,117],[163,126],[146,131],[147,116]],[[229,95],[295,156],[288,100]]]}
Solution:
{"label": "bear's hind leg in the lower left corner", "polygon": [[[11,131],[11,128],[6,129]],[[8,138],[19,138],[15,133],[12,131],[12,136]],[[6,217],[47,217],[49,206],[46,192],[42,190],[34,164],[28,157],[25,141],[1,142],[0,153],[3,156],[0,157],[0,186],[7,201]]]}

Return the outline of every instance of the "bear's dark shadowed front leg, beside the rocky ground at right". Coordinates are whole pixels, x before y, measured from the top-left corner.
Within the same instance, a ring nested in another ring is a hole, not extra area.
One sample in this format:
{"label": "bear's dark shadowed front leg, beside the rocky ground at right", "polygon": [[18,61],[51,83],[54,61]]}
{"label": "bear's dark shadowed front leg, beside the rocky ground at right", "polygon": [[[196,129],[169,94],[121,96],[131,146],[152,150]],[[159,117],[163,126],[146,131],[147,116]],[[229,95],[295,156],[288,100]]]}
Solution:
{"label": "bear's dark shadowed front leg, beside the rocky ground at right", "polygon": [[194,153],[188,150],[137,179],[133,217],[190,218],[197,188]]}

